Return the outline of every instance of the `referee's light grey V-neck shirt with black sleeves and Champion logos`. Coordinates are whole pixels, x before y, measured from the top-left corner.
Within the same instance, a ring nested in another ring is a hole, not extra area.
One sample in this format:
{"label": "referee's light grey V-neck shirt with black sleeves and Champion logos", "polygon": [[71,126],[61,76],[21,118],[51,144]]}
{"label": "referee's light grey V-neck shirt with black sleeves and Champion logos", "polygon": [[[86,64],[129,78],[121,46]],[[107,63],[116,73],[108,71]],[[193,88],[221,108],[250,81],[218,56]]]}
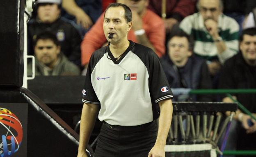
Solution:
{"label": "referee's light grey V-neck shirt with black sleeves and Champion logos", "polygon": [[100,105],[98,118],[111,125],[136,126],[158,118],[156,103],[173,97],[158,56],[130,41],[116,61],[109,46],[90,58],[82,102]]}

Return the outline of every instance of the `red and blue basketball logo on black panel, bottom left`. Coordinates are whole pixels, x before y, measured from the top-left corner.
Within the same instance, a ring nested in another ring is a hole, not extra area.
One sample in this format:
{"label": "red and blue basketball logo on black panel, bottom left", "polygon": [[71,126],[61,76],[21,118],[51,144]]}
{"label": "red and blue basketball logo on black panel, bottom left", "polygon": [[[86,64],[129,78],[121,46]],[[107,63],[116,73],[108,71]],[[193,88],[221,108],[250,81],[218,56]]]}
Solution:
{"label": "red and blue basketball logo on black panel, bottom left", "polygon": [[0,157],[11,157],[21,146],[21,122],[14,113],[6,108],[0,108],[0,127]]}

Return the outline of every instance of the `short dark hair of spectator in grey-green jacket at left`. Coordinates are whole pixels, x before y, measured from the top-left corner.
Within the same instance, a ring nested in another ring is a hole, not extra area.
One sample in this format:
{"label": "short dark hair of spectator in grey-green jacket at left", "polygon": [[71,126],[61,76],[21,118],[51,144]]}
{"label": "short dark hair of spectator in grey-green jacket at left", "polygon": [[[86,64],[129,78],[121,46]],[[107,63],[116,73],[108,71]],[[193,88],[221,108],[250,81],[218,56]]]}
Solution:
{"label": "short dark hair of spectator in grey-green jacket at left", "polygon": [[38,40],[52,40],[56,46],[60,45],[60,42],[59,40],[57,40],[56,35],[53,34],[53,32],[51,31],[43,31],[37,34],[35,39],[33,40],[33,46],[36,46]]}

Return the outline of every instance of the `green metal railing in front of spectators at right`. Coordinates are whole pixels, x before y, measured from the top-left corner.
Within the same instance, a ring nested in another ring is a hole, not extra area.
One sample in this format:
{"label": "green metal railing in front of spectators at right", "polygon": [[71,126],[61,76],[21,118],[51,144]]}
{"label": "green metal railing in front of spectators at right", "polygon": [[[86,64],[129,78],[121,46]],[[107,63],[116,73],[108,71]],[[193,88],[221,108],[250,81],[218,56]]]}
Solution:
{"label": "green metal railing in front of spectators at right", "polygon": [[[238,104],[240,110],[256,120],[256,117],[245,106],[232,97],[231,94],[236,93],[256,93],[256,89],[192,89],[190,91],[190,94],[226,94],[233,102]],[[224,150],[223,155],[256,155],[256,150]]]}

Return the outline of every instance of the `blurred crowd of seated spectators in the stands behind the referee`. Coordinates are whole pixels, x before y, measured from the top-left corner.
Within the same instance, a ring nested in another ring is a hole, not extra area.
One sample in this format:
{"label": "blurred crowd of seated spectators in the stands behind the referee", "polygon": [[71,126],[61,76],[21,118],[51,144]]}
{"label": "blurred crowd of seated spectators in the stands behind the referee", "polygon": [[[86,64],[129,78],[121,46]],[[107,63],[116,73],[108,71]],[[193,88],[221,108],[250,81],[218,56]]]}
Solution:
{"label": "blurred crowd of seated spectators in the stands behind the referee", "polygon": [[[108,44],[102,25],[112,2],[132,10],[128,40],[155,51],[175,101],[231,102],[228,97],[180,95],[187,88],[256,88],[254,0],[166,0],[164,13],[159,0],[37,0],[28,22],[35,74],[86,75],[91,54]],[[233,96],[256,115],[255,94]],[[236,133],[244,136],[231,148],[255,149],[244,143],[256,137],[256,122],[248,126],[250,117],[240,110],[234,119],[243,125]]]}

